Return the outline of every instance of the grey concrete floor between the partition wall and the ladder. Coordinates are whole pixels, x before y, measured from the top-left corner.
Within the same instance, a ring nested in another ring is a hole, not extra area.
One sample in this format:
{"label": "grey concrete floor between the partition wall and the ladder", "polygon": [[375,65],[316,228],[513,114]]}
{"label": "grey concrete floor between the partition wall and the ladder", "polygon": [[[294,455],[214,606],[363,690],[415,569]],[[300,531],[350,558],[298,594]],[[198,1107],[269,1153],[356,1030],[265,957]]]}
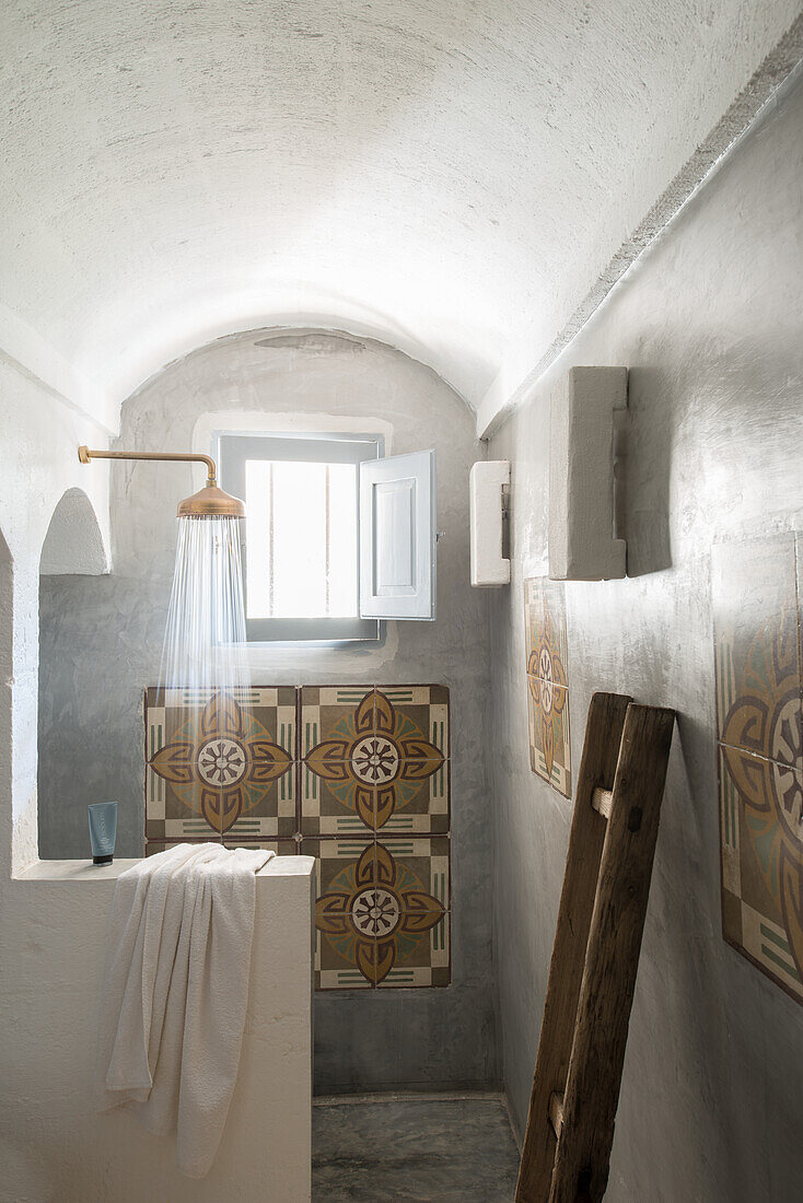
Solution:
{"label": "grey concrete floor between the partition wall and the ladder", "polygon": [[313,1110],[313,1203],[510,1203],[518,1168],[494,1096],[362,1096]]}

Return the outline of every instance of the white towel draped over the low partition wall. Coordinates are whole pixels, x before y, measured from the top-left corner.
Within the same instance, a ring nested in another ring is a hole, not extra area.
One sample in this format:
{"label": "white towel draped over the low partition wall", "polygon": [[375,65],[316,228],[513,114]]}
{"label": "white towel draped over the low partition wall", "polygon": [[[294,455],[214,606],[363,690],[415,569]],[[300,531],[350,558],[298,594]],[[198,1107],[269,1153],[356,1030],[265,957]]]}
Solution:
{"label": "white towel draped over the low partition wall", "polygon": [[102,998],[99,1108],[176,1132],[202,1178],[237,1077],[264,849],[182,843],[117,879]]}

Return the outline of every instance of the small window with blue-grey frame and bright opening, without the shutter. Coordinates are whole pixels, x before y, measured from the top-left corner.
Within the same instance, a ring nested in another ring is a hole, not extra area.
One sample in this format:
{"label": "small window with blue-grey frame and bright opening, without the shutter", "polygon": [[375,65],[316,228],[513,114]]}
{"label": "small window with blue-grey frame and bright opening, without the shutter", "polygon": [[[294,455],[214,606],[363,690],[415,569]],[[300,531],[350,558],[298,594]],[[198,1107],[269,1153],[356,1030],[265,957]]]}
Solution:
{"label": "small window with blue-grey frame and bright opening, without the shutter", "polygon": [[225,490],[246,503],[249,641],[379,638],[360,617],[360,464],[380,435],[220,434]]}

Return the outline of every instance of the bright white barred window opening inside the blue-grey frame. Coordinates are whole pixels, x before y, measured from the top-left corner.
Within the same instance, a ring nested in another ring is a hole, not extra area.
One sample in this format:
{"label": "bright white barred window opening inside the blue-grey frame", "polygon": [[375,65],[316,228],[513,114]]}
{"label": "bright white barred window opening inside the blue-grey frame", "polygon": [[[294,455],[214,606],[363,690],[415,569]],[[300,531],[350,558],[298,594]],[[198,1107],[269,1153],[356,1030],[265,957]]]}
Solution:
{"label": "bright white barred window opening inside the blue-grey frame", "polygon": [[246,460],[248,618],[358,614],[356,466]]}

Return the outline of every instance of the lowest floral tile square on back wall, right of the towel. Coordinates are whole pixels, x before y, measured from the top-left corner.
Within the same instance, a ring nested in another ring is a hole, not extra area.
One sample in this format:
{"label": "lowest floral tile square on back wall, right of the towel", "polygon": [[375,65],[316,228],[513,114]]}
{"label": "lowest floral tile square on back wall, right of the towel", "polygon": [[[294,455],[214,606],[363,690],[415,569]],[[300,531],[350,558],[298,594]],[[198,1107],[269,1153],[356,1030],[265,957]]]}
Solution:
{"label": "lowest floral tile square on back wall, right of the towel", "polygon": [[301,852],[317,860],[318,989],[448,984],[448,838],[303,840]]}

